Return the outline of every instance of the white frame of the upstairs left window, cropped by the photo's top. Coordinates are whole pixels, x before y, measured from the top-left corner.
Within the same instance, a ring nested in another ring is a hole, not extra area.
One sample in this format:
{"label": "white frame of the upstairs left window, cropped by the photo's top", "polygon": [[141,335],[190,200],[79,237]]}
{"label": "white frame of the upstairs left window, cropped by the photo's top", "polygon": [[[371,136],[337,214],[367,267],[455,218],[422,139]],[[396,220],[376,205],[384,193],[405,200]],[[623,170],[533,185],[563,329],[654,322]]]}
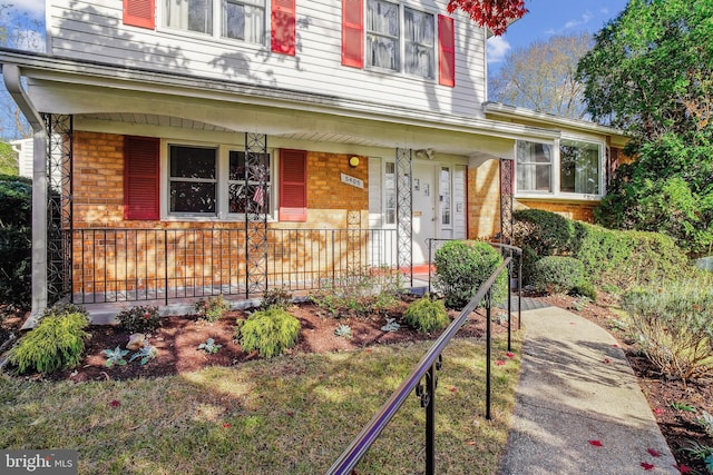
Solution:
{"label": "white frame of the upstairs left window, cropped by the photo's top", "polygon": [[[260,47],[260,48],[266,48],[268,47],[268,39],[270,39],[270,34],[271,34],[271,0],[231,0],[231,3],[243,3],[246,6],[253,6],[256,8],[262,8],[263,9],[263,19],[262,19],[262,33],[261,33],[261,39],[257,42],[254,41],[248,41],[248,40],[241,40],[238,38],[229,38],[227,36],[223,34],[223,30],[224,30],[224,1],[225,0],[211,0],[212,2],[212,7],[213,7],[213,17],[212,17],[212,32],[211,33],[205,33],[205,32],[201,32],[201,31],[193,31],[193,30],[188,30],[187,28],[175,28],[175,27],[170,27],[168,26],[168,11],[166,9],[166,3],[168,1],[172,0],[159,0],[158,3],[160,6],[159,8],[159,19],[160,21],[158,22],[158,31],[168,31],[173,34],[182,34],[182,36],[187,36],[187,37],[192,37],[195,39],[204,39],[204,40],[209,40],[209,41],[218,41],[218,42],[229,42],[229,43],[235,43],[235,42],[240,42],[242,44],[245,46],[254,46],[254,47]],[[175,1],[175,0],[174,0]]]}

